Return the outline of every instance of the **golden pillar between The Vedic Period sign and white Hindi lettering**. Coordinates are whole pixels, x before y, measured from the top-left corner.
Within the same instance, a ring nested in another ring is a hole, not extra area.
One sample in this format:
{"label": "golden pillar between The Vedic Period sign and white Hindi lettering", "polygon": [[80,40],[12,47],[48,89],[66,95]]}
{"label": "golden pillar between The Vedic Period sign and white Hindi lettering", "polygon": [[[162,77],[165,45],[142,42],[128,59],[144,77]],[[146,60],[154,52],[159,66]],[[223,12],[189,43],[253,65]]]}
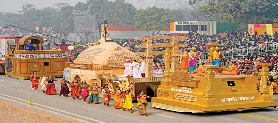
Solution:
{"label": "golden pillar between The Vedic Period sign and white Hindi lettering", "polygon": [[215,72],[213,70],[218,68],[219,66],[203,65],[203,67],[208,70],[205,72],[204,78],[207,79],[207,82],[206,82],[206,89],[204,89],[203,98],[202,98],[201,102],[204,105],[209,105],[209,103],[216,102],[216,100],[214,98],[214,91],[211,88],[211,84],[212,84],[213,78],[215,77]]}

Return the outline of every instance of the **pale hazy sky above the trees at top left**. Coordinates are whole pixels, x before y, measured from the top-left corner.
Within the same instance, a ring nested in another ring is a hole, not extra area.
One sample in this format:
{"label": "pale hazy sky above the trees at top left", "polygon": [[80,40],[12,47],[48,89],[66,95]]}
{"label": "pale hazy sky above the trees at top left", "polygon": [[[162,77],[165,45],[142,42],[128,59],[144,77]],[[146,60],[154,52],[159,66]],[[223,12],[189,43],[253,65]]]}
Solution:
{"label": "pale hazy sky above the trees at top left", "polygon": [[69,3],[71,6],[74,6],[78,2],[86,2],[86,0],[0,0],[0,12],[17,12],[20,7],[25,4],[33,4],[36,9],[43,7],[51,7],[53,4],[65,2]]}

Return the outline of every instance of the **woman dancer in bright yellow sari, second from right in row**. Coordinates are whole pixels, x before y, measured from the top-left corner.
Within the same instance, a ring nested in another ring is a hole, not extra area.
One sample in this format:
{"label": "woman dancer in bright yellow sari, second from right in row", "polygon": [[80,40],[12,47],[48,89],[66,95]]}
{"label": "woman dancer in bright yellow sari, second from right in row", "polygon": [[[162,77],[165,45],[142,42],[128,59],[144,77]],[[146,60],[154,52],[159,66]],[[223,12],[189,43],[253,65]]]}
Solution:
{"label": "woman dancer in bright yellow sari, second from right in row", "polygon": [[123,94],[123,97],[123,110],[125,111],[125,109],[128,109],[130,113],[133,113],[132,108],[134,107],[134,105],[132,104],[132,98],[135,98],[135,96],[129,93],[129,89],[126,89],[125,93]]}

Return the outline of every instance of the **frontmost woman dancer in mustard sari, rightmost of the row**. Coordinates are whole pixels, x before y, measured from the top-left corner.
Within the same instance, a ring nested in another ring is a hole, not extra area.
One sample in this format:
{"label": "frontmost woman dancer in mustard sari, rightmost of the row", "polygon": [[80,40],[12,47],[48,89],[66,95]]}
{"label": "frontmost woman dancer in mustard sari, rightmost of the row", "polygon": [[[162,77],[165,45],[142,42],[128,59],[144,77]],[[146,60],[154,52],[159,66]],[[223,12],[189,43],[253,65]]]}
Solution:
{"label": "frontmost woman dancer in mustard sari, rightmost of the row", "polygon": [[144,95],[144,91],[139,91],[140,92],[140,95],[137,96],[137,109],[139,109],[139,114],[142,115],[144,114],[144,116],[148,116],[146,114],[146,107],[148,105],[147,101],[146,101],[146,98],[150,98],[149,96],[147,95]]}

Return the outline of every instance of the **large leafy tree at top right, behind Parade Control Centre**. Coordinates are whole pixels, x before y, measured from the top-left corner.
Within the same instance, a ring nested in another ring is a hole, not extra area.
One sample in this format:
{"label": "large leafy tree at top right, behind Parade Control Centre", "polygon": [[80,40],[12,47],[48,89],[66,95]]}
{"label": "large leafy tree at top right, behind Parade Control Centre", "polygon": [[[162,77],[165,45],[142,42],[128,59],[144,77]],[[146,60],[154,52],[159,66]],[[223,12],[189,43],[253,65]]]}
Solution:
{"label": "large leafy tree at top right, behind Parade Control Centre", "polygon": [[[189,0],[189,4],[199,5],[202,0]],[[224,21],[233,23],[238,29],[246,29],[248,24],[273,23],[278,16],[277,0],[206,0],[199,11],[208,17],[221,15]]]}

